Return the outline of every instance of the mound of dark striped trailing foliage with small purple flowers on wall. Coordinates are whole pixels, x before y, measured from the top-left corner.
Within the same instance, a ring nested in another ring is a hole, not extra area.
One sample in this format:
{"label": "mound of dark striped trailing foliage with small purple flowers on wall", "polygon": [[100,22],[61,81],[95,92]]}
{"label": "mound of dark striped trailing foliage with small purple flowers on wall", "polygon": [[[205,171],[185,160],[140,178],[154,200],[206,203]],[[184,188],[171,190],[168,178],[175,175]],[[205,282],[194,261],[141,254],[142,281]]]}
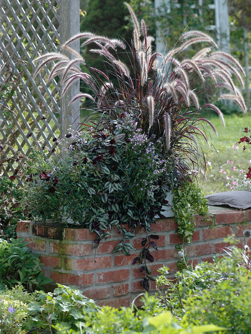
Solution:
{"label": "mound of dark striped trailing foliage with small purple flowers on wall", "polygon": [[146,261],[154,260],[149,248],[157,249],[158,239],[150,233],[150,224],[156,214],[161,216],[171,159],[159,153],[161,140],[150,140],[136,126],[132,115],[123,114],[111,122],[110,133],[69,130],[65,140],[58,140],[64,159],[55,156],[44,161],[38,155],[37,161],[31,161],[24,203],[33,219],[58,220],[62,215],[95,231],[95,248],[111,229],[118,229],[122,240],[114,252],[124,255],[136,251],[126,241],[135,236],[137,226],[143,227],[143,249],[133,263],[143,263],[142,285],[148,289],[151,271]]}

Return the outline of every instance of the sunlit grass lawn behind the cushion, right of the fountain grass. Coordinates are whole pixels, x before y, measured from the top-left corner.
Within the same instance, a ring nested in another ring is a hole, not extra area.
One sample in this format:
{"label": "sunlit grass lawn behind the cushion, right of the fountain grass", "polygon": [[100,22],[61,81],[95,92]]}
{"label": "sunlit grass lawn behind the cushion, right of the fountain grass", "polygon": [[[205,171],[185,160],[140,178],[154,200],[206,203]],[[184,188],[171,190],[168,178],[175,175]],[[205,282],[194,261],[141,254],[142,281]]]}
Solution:
{"label": "sunlit grass lawn behind the cushion, right of the fountain grass", "polygon": [[207,146],[206,142],[203,143],[203,151],[208,164],[205,178],[198,178],[198,184],[204,195],[231,190],[230,187],[226,187],[227,181],[224,179],[224,175],[219,172],[221,166],[226,164],[227,160],[234,162],[230,165],[230,168],[236,166],[237,169],[247,170],[248,166],[251,165],[249,162],[251,151],[245,150],[243,152],[243,144],[240,144],[237,149],[233,148],[233,145],[239,141],[240,137],[245,136],[243,133],[244,128],[251,127],[251,113],[239,116],[234,114],[227,115],[225,120],[226,126],[224,128],[217,116],[210,119],[218,132],[218,138],[214,131],[209,129],[208,138],[211,136],[210,147]]}

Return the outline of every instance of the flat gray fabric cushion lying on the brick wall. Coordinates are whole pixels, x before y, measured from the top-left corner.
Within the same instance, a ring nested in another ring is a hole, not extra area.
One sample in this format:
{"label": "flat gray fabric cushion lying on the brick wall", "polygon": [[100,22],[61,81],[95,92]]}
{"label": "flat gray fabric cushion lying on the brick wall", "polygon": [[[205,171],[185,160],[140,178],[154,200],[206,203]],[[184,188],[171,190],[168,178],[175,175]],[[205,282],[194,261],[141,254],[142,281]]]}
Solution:
{"label": "flat gray fabric cushion lying on the brick wall", "polygon": [[209,205],[229,205],[233,208],[251,208],[251,191],[225,191],[205,196]]}

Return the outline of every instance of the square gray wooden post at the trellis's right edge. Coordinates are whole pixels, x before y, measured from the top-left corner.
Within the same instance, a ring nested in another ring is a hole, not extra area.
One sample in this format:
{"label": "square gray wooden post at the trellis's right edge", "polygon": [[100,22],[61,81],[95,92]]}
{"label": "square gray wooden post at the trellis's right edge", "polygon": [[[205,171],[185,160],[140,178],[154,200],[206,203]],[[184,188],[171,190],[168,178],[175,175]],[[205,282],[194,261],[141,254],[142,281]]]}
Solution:
{"label": "square gray wooden post at the trellis's right edge", "polygon": [[[75,35],[80,30],[80,14],[79,4],[80,0],[61,0],[60,5],[60,43],[64,43],[67,39]],[[70,45],[77,52],[80,51],[80,41],[74,41]],[[61,84],[60,91],[64,85]],[[80,82],[76,80],[70,88],[67,90],[65,95],[60,98],[60,137],[63,137],[68,133],[69,126],[73,128],[79,127],[80,121],[80,102],[79,100],[68,106],[69,102],[75,95],[79,93]]]}

